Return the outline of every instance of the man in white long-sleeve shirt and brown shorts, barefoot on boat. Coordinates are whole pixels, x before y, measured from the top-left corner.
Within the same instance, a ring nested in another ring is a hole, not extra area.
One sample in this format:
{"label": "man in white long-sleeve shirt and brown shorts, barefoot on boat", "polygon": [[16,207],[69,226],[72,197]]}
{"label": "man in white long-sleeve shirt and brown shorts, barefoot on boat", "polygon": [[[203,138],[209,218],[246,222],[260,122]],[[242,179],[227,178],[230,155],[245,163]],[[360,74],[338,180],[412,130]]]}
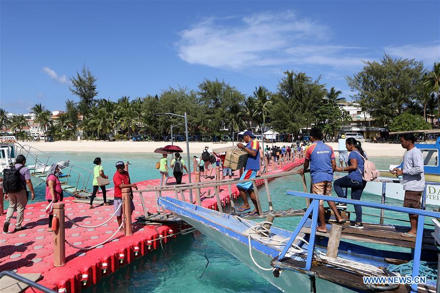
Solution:
{"label": "man in white long-sleeve shirt and brown shorts, barefoot on boat", "polygon": [[[425,175],[423,169],[423,155],[421,151],[414,145],[416,138],[412,133],[400,135],[400,145],[406,149],[403,155],[403,167],[401,169],[394,168],[392,173],[397,177],[403,177],[403,190],[405,190],[405,198],[403,207],[420,209],[420,198],[425,189]],[[411,230],[401,235],[404,237],[415,237],[417,234],[418,215],[409,214],[411,222]]]}

